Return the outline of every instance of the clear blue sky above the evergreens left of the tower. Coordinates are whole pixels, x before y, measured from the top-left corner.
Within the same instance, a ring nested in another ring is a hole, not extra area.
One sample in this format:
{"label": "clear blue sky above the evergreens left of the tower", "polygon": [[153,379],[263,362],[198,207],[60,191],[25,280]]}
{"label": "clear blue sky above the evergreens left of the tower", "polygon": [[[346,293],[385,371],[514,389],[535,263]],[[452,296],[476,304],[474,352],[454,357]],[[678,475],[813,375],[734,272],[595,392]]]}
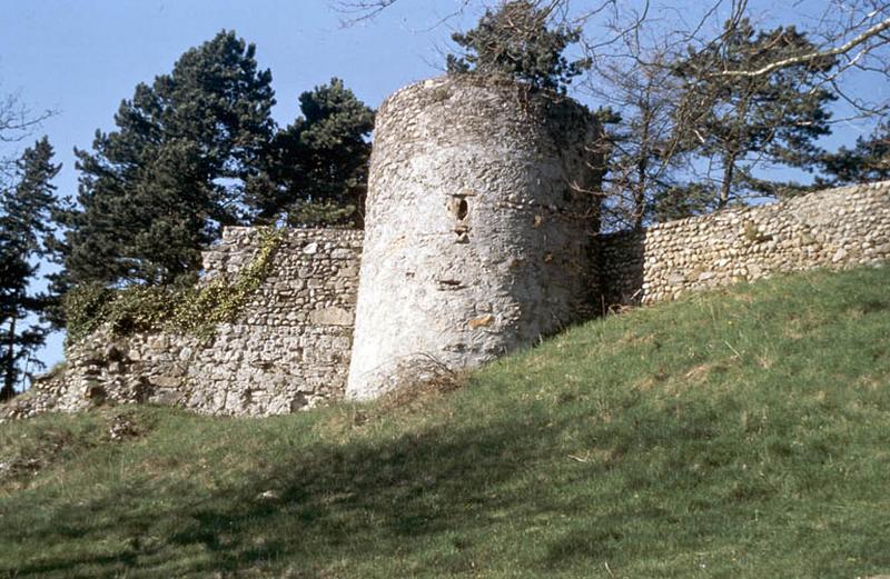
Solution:
{"label": "clear blue sky above the evergreens left of the tower", "polygon": [[[72,196],[72,149],[89,148],[96,129],[113,128],[118,104],[138,82],[169,72],[185,50],[221,29],[257,46],[260,67],[273,72],[274,117],[288,124],[299,93],[334,76],[376,108],[399,87],[441,73],[452,30],[468,28],[479,16],[476,0],[463,18],[435,26],[462,3],[399,0],[375,20],[344,28],[329,0],[8,1],[0,20],[0,94],[18,93],[34,111],[58,111],[38,134],[49,136],[63,163],[56,180],[59,193]],[[639,2],[619,2],[633,3]],[[684,6],[683,17],[692,18],[704,3]],[[751,2],[752,13],[770,23],[805,23],[823,6],[823,0]],[[867,89],[887,93],[888,87]],[[835,132],[833,141],[851,142],[862,129],[838,127]],[[42,358],[51,365],[61,357],[56,336]]]}

